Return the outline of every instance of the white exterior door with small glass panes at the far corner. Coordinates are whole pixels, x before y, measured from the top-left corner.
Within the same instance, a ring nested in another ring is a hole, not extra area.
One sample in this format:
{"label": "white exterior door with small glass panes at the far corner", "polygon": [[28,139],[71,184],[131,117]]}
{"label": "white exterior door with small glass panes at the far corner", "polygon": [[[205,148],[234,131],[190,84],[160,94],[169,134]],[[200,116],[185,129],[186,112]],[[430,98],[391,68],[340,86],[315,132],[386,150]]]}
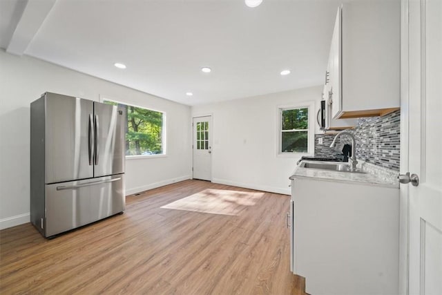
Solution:
{"label": "white exterior door with small glass panes at the far corner", "polygon": [[212,117],[193,118],[193,178],[212,180]]}

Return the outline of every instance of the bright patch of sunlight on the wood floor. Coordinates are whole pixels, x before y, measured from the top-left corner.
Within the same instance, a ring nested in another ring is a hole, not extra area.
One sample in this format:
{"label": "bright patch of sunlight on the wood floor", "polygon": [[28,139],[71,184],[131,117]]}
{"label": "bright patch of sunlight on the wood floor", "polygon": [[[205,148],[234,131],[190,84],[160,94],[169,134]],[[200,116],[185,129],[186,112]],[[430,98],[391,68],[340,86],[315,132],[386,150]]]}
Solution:
{"label": "bright patch of sunlight on the wood floor", "polygon": [[161,208],[239,216],[241,211],[256,204],[262,196],[264,193],[204,189]]}

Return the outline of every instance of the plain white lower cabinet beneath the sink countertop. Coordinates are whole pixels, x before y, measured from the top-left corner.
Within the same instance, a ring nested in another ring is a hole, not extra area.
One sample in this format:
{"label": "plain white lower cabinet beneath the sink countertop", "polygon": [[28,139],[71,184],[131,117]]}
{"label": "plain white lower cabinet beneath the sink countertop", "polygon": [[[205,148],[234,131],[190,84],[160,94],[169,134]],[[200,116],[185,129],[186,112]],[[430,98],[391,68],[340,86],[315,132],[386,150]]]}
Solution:
{"label": "plain white lower cabinet beneath the sink countertop", "polygon": [[397,294],[399,190],[292,180],[293,272],[308,294]]}

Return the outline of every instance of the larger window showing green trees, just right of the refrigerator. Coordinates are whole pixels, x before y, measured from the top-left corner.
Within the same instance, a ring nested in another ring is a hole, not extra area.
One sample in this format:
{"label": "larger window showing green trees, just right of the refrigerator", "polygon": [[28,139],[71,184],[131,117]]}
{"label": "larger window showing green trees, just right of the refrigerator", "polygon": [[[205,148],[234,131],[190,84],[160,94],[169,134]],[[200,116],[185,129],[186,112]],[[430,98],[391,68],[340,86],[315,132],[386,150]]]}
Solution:
{"label": "larger window showing green trees, just right of the refrigerator", "polygon": [[164,113],[104,100],[126,108],[126,155],[164,154]]}

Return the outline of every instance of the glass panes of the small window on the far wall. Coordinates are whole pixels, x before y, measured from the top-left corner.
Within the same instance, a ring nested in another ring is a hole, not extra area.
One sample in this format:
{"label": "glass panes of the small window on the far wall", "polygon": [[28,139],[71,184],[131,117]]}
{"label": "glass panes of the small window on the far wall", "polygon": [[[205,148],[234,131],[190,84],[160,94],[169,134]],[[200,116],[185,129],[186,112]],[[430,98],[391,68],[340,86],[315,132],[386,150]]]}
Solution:
{"label": "glass panes of the small window on the far wall", "polygon": [[280,153],[307,153],[309,108],[280,109]]}

